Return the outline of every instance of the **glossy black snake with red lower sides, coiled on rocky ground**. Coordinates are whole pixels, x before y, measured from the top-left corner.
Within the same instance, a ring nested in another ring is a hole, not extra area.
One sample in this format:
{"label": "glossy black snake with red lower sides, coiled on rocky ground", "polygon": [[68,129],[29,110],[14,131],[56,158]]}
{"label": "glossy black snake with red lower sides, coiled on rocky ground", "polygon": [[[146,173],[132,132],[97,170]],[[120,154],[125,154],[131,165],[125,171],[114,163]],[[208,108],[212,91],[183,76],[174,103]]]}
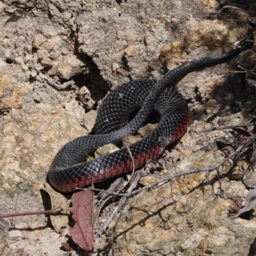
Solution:
{"label": "glossy black snake with red lower sides, coiled on rocky ground", "polygon": [[[134,81],[113,90],[104,100],[97,117],[96,131],[100,134],[76,138],[64,145],[54,157],[49,170],[52,186],[69,192],[131,171],[132,159],[127,148],[89,162],[84,162],[86,153],[92,154],[95,148],[108,143],[120,143],[125,134],[134,134],[147,120],[154,106],[161,115],[159,125],[147,137],[131,145],[130,150],[135,168],[143,166],[148,159],[161,156],[164,148],[182,136],[189,124],[188,105],[172,86],[173,79],[193,68],[225,61],[250,46],[245,44],[218,56],[190,61],[169,71],[156,83]],[[120,127],[125,116],[140,106],[140,111],[131,122]]]}

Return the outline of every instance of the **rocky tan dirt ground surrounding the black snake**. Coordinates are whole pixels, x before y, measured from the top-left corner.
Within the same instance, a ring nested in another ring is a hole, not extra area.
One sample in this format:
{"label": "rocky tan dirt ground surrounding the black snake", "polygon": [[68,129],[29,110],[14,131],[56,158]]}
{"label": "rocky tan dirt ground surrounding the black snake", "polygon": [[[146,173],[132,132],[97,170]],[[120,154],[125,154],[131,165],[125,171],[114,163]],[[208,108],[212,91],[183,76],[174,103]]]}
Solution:
{"label": "rocky tan dirt ground surrounding the black snake", "polygon": [[[209,14],[226,5],[245,11]],[[65,143],[92,131],[108,92],[230,51],[245,36],[253,37],[254,7],[250,0],[1,1],[0,214],[49,209],[41,188],[53,157]],[[209,145],[233,146],[237,134],[254,134],[253,125],[200,131],[255,122],[255,77],[246,72],[255,60],[249,50],[228,63],[198,68],[177,83],[191,123],[179,142],[145,167],[151,176],[141,178],[140,188],[156,175],[214,166],[225,154]],[[60,87],[68,81],[74,83]],[[122,217],[116,228],[115,255],[256,255],[255,212],[236,219],[227,214],[233,212],[230,204],[244,202],[256,186],[253,172],[246,176],[253,147],[238,160],[229,159],[219,173],[188,175],[130,198],[124,209],[129,220]],[[116,204],[102,210],[95,232]],[[70,228],[57,234],[49,216],[4,220],[8,228],[0,222],[0,255],[86,255],[71,241]],[[114,224],[95,237],[93,255],[111,255]],[[67,242],[70,250],[63,246]]]}

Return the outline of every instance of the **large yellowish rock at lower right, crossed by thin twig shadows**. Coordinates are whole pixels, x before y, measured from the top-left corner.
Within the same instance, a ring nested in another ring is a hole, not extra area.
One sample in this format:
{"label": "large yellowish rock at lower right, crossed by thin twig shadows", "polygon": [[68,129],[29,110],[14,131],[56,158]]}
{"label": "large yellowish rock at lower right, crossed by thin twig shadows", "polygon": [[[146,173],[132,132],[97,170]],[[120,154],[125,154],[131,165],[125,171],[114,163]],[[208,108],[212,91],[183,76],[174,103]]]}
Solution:
{"label": "large yellowish rock at lower right, crossed by thin twig shadows", "polygon": [[[196,152],[185,157],[184,161],[178,163],[172,170],[167,170],[164,176],[179,173],[181,170],[183,172],[209,166],[209,161],[218,163],[219,159],[214,154],[216,153]],[[195,157],[197,161],[194,163],[199,165],[189,166],[187,161],[191,157]],[[209,180],[214,175],[211,176]],[[140,182],[145,185],[150,184],[149,178],[143,177]],[[225,254],[230,254],[234,248],[239,248],[237,240],[232,238],[234,234],[243,234],[243,241],[250,243],[248,230],[255,230],[256,223],[245,228],[244,220],[237,219],[234,224],[233,220],[228,219],[225,200],[218,198],[219,204],[213,204],[216,196],[211,185],[205,183],[204,186],[198,188],[198,185],[201,182],[204,183],[205,179],[204,173],[180,177],[172,180],[172,186],[169,183],[150,189],[150,191],[142,191],[129,200],[129,204],[125,207],[125,211],[130,216],[129,222],[124,217],[121,218],[116,230],[118,234],[124,234],[122,232],[125,230],[125,236],[119,236],[116,240],[117,244],[123,244],[120,246],[120,254],[131,255],[132,248],[136,248],[136,254],[144,252],[147,255],[155,255],[150,253],[152,250],[161,255],[172,255],[180,250],[188,252],[188,255],[195,253],[195,250],[198,253],[209,250],[220,253],[225,251]],[[151,180],[151,182],[156,181],[156,177],[152,177]],[[227,191],[229,189],[228,186]],[[211,214],[207,214],[210,205]],[[158,212],[158,214],[150,214],[150,212]],[[113,225],[114,223],[115,221]],[[227,226],[224,223],[227,223]],[[232,233],[230,233],[230,228]],[[148,235],[141,236],[141,234]],[[174,243],[175,246],[170,246],[170,243]],[[227,246],[229,243],[232,243],[232,246]]]}

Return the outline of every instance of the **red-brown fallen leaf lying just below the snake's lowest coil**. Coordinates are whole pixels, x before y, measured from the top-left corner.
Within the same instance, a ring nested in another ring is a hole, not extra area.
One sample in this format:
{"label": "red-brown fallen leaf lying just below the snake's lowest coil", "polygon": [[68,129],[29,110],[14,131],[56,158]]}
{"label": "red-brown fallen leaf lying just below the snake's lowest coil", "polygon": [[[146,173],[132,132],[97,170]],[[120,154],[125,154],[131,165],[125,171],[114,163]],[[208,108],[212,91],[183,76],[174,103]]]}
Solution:
{"label": "red-brown fallen leaf lying just below the snake's lowest coil", "polygon": [[72,218],[76,221],[70,236],[76,244],[92,255],[93,250],[93,192],[79,191],[72,195]]}

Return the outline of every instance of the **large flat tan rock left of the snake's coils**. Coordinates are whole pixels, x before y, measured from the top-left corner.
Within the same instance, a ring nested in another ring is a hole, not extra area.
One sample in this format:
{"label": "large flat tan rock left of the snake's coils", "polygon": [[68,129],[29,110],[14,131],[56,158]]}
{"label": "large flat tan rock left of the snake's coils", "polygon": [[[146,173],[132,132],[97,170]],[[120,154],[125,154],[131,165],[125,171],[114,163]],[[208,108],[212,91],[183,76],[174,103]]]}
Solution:
{"label": "large flat tan rock left of the snake's coils", "polygon": [[40,193],[56,152],[72,138],[84,135],[74,116],[48,104],[12,109],[1,131],[0,195],[23,190]]}

